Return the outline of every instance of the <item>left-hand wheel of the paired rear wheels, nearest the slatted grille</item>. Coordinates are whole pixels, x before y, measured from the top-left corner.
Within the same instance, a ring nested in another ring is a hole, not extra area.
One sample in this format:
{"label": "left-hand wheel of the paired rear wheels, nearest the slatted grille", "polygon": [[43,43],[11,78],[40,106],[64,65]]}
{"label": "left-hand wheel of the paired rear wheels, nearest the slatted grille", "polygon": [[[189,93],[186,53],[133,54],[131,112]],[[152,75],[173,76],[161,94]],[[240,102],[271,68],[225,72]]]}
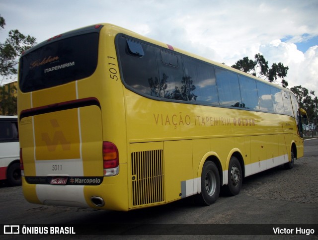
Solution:
{"label": "left-hand wheel of the paired rear wheels, nearest the slatted grille", "polygon": [[201,175],[201,193],[195,195],[196,203],[204,206],[214,203],[220,194],[220,174],[212,161],[206,161]]}

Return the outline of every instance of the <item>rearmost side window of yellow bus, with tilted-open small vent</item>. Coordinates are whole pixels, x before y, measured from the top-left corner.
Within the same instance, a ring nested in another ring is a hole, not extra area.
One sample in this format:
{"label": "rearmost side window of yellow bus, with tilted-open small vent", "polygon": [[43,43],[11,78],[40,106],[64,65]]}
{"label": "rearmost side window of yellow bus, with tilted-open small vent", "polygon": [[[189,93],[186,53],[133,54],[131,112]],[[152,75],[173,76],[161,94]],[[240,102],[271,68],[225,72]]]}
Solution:
{"label": "rearmost side window of yellow bus, with tilted-open small vent", "polygon": [[144,55],[132,55],[130,54],[132,49],[130,49],[128,42],[133,41],[127,40],[125,37],[118,39],[123,80],[139,92],[160,97],[163,85],[159,82],[155,48],[147,44],[133,42],[136,51],[142,51]]}

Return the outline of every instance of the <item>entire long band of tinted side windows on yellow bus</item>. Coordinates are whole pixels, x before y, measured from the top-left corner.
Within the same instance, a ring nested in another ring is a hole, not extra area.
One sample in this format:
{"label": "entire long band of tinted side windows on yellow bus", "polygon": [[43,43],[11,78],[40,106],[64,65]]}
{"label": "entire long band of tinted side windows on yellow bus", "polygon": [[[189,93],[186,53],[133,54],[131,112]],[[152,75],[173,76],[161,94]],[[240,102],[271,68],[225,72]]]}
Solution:
{"label": "entire long band of tinted side windows on yellow bus", "polygon": [[149,43],[116,38],[122,80],[153,97],[293,115],[289,93]]}

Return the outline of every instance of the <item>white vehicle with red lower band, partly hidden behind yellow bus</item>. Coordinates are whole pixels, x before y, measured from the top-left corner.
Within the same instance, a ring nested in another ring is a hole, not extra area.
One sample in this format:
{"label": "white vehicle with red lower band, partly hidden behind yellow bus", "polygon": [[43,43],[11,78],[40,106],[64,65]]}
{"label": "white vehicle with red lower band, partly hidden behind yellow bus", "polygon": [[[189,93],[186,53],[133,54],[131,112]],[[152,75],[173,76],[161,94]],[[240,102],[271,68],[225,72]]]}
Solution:
{"label": "white vehicle with red lower band, partly hidden behind yellow bus", "polygon": [[0,116],[0,180],[21,185],[17,116]]}

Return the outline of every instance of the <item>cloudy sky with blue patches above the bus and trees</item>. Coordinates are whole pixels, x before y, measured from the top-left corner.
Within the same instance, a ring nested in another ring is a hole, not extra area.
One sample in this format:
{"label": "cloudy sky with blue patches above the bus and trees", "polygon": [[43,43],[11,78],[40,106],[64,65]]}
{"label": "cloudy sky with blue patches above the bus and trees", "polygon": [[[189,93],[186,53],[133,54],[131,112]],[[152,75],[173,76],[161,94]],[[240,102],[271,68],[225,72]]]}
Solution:
{"label": "cloudy sky with blue patches above the bus and trees", "polygon": [[0,15],[1,43],[108,22],[228,66],[260,53],[318,95],[318,0],[0,0]]}

